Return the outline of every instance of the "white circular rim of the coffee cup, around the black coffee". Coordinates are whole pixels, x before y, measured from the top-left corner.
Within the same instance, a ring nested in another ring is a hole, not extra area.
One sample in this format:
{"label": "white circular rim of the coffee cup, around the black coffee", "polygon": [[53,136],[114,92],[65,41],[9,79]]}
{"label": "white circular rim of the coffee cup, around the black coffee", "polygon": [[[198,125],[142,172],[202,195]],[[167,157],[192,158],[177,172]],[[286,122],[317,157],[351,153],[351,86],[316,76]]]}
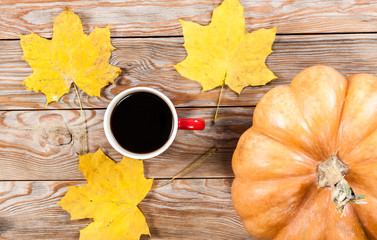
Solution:
{"label": "white circular rim of the coffee cup, around the black coffee", "polygon": [[[124,97],[126,97],[127,95],[130,95],[132,93],[136,93],[136,92],[148,92],[148,93],[152,93],[152,94],[160,97],[169,106],[171,113],[172,113],[172,116],[173,116],[173,125],[172,125],[172,130],[171,130],[170,137],[169,137],[168,141],[166,141],[166,143],[162,147],[160,147],[159,149],[157,149],[153,152],[149,152],[149,153],[134,153],[134,152],[130,152],[130,151],[124,149],[116,141],[116,139],[115,139],[115,137],[114,137],[114,135],[111,131],[111,127],[110,127],[110,118],[111,118],[111,114],[112,114],[115,106]],[[134,87],[134,88],[130,88],[130,89],[127,89],[127,90],[119,93],[110,102],[110,104],[106,108],[105,117],[104,117],[104,121],[103,121],[103,127],[105,129],[105,135],[106,135],[107,140],[109,141],[111,146],[115,150],[117,150],[120,154],[122,154],[126,157],[134,158],[134,159],[147,159],[147,158],[152,158],[152,157],[156,157],[156,156],[160,155],[166,149],[168,149],[169,146],[173,143],[175,136],[177,135],[177,131],[178,131],[178,116],[177,116],[177,111],[175,110],[173,103],[163,93],[161,93],[161,92],[159,92],[159,91],[157,91],[153,88],[149,88],[149,87]]]}

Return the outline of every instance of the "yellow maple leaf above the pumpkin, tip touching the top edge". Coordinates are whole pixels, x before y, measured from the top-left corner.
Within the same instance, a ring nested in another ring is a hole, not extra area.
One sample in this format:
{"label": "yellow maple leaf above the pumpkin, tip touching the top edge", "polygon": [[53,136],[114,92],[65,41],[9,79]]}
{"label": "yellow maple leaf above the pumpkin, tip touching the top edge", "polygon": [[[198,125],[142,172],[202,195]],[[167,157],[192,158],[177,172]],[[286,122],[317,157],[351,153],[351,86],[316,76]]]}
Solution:
{"label": "yellow maple leaf above the pumpkin, tip touching the top edge", "polygon": [[276,78],[265,64],[276,28],[247,33],[238,0],[224,0],[207,26],[180,22],[187,57],[175,68],[182,76],[199,82],[203,91],[226,84],[240,94],[248,85],[264,85]]}

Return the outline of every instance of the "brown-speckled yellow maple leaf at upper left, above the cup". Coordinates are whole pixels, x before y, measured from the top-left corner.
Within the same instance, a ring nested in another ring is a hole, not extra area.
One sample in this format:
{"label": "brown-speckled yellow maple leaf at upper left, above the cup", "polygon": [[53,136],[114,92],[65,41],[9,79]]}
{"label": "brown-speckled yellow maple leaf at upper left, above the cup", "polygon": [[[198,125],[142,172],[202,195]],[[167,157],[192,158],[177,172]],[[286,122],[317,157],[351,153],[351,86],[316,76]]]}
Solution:
{"label": "brown-speckled yellow maple leaf at upper left, above the cup", "polygon": [[74,82],[90,96],[121,73],[109,58],[115,49],[110,43],[110,28],[95,28],[86,35],[80,18],[68,8],[54,20],[54,35],[48,40],[31,33],[20,35],[22,58],[33,68],[22,84],[27,90],[41,91],[47,103],[58,101]]}

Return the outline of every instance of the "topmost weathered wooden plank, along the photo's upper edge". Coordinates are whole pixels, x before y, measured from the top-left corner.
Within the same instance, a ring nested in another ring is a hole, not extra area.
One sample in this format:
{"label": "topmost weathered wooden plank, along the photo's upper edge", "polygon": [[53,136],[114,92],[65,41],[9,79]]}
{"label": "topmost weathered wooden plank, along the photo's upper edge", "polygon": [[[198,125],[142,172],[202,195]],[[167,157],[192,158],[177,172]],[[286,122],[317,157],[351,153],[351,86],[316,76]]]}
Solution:
{"label": "topmost weathered wooden plank, along the photo's upper edge", "polygon": [[[85,30],[111,25],[114,37],[181,35],[178,19],[208,24],[221,0],[0,2],[0,38],[18,39],[31,31],[52,36],[52,19],[65,7],[75,11]],[[375,32],[377,2],[326,0],[241,0],[249,30],[279,26],[279,33]]]}

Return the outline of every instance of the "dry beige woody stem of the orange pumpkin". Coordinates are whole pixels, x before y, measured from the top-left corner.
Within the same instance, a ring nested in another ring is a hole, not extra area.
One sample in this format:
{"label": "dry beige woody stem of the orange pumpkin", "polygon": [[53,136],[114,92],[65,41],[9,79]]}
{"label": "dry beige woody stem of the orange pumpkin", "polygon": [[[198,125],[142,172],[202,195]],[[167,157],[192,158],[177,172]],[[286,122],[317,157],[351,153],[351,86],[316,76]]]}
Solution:
{"label": "dry beige woody stem of the orange pumpkin", "polygon": [[348,202],[365,203],[358,201],[359,199],[364,199],[365,196],[355,194],[344,179],[348,171],[349,167],[338,157],[337,153],[332,154],[317,165],[317,184],[319,187],[329,187],[331,189],[331,199],[339,213],[343,213],[344,207]]}

